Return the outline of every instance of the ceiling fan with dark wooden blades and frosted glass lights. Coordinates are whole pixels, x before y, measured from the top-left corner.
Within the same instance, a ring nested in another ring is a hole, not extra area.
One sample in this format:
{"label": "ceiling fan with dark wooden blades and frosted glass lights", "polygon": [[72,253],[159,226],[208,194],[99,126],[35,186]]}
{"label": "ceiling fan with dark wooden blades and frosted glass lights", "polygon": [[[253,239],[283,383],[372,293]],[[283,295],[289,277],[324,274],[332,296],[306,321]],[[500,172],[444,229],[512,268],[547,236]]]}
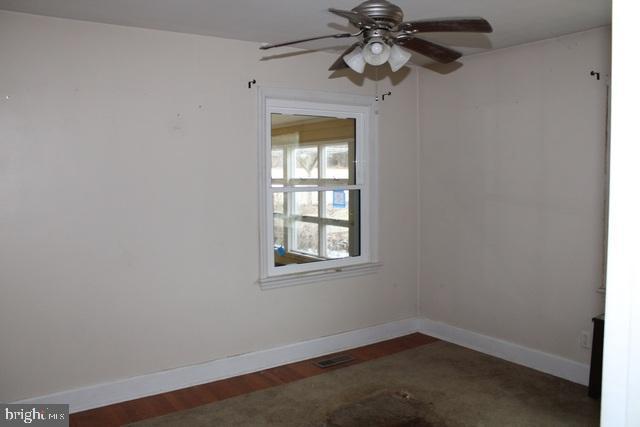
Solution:
{"label": "ceiling fan with dark wooden blades and frosted glass lights", "polygon": [[330,71],[351,68],[363,73],[366,64],[383,65],[389,62],[392,71],[398,71],[417,52],[437,62],[447,64],[462,54],[448,47],[416,37],[419,33],[476,32],[490,33],[491,25],[482,18],[445,18],[402,22],[404,13],[400,7],[387,0],[368,0],[352,10],[329,9],[329,12],[346,18],[358,28],[356,33],[339,33],[311,37],[285,43],[267,44],[260,49],[272,49],[320,39],[357,37],[359,40],[340,55],[329,67]]}

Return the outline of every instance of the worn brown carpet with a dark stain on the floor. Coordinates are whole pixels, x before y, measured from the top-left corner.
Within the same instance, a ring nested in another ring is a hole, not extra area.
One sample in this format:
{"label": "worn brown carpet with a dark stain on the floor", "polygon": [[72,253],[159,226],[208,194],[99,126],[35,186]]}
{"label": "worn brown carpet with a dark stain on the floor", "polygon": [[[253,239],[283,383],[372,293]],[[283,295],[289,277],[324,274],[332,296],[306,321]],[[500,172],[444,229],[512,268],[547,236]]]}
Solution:
{"label": "worn brown carpet with a dark stain on the floor", "polygon": [[597,426],[584,386],[443,341],[130,426]]}

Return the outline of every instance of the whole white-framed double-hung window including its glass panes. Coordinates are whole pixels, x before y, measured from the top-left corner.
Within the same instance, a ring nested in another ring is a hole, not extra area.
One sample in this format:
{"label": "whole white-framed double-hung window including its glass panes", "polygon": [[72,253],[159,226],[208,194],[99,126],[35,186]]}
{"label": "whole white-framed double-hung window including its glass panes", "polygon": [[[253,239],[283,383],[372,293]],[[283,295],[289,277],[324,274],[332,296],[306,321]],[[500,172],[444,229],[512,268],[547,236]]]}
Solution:
{"label": "whole white-framed double-hung window including its glass panes", "polygon": [[260,283],[375,270],[373,100],[261,89]]}

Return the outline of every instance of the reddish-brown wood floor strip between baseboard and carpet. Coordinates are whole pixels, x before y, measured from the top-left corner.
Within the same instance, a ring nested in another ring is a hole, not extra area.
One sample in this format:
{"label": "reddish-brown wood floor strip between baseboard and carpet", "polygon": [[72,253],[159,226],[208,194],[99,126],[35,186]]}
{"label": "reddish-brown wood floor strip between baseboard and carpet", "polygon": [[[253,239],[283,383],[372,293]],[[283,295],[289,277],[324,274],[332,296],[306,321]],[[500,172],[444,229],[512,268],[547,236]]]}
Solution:
{"label": "reddish-brown wood floor strip between baseboard and carpet", "polygon": [[[290,383],[434,341],[437,340],[426,335],[418,333],[411,334],[349,350],[348,353],[354,358],[354,361],[333,368],[318,368],[313,364],[318,358],[309,359],[252,374],[228,378],[226,380],[214,381],[199,386],[144,397],[142,399],[130,400],[128,402],[117,403],[89,411],[78,412],[71,415],[70,426],[120,426],[146,418],[153,418],[171,412],[194,408],[217,400],[228,399],[252,391]],[[326,356],[323,356],[320,359],[324,359],[325,357]]]}

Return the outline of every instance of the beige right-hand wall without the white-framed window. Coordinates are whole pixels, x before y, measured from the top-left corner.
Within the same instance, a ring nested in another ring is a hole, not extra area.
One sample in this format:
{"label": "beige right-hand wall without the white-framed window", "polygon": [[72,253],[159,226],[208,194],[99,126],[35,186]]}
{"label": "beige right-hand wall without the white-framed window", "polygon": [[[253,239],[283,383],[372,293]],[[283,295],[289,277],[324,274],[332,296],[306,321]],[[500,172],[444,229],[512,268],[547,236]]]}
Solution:
{"label": "beige right-hand wall without the white-framed window", "polygon": [[420,311],[579,362],[603,310],[609,28],[420,74]]}

